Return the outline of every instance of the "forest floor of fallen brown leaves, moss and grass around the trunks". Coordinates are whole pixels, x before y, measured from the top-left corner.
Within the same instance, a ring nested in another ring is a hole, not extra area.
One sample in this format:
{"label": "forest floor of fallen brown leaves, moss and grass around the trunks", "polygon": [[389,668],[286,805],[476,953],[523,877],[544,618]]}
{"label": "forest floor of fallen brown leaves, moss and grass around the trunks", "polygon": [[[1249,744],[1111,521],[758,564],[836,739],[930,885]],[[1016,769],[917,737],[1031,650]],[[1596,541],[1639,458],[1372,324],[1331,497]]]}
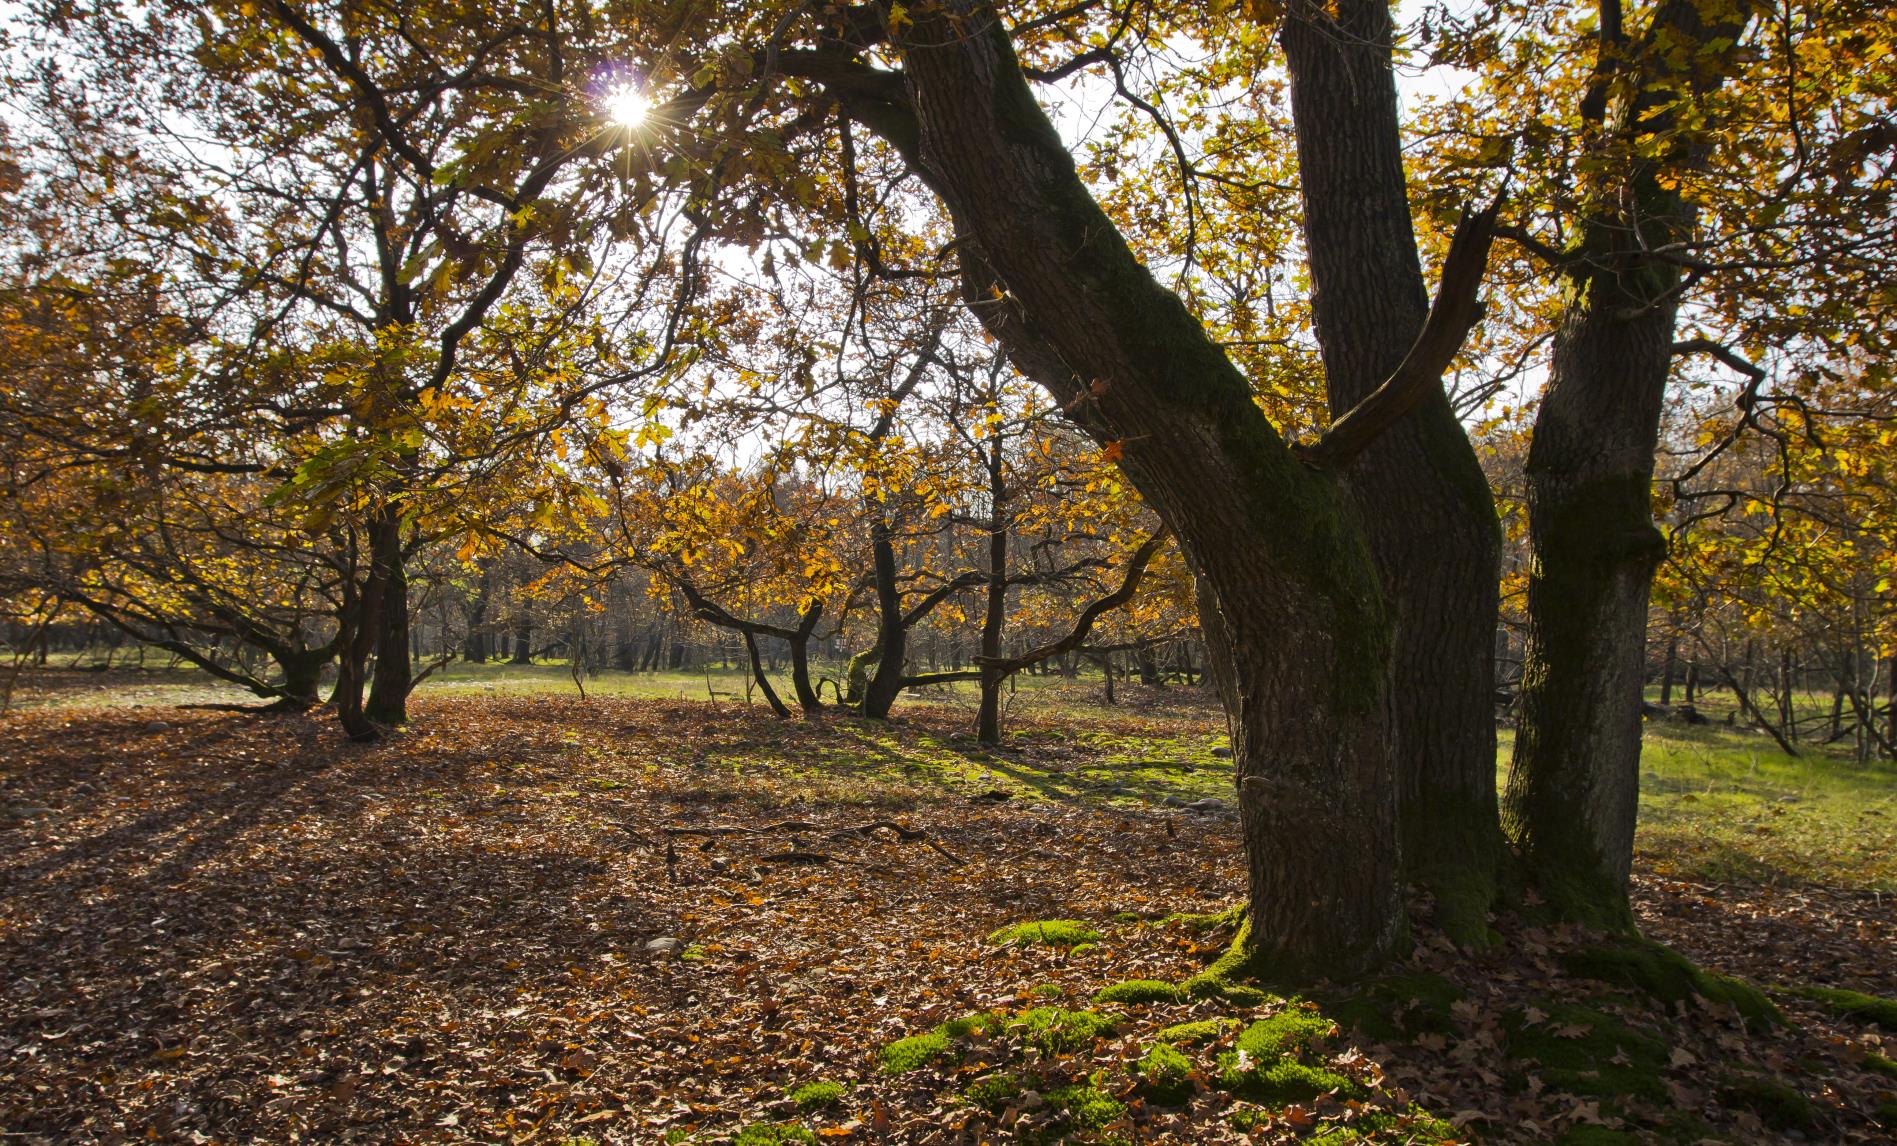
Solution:
{"label": "forest floor of fallen brown leaves, moss and grass around the trunks", "polygon": [[[1241,896],[1237,822],[1203,803],[1229,797],[1229,761],[1203,702],[1133,698],[1022,704],[1000,751],[954,706],[804,725],[436,689],[374,746],[321,715],[0,717],[0,1133],[1897,1133],[1897,1004],[1795,992],[1897,998],[1888,768],[1656,729],[1641,926],[1777,1017],[1650,949],[1512,916],[1485,952],[1419,926],[1351,994],[1191,998],[1174,985],[1229,935],[1170,916]],[[994,935],[1032,920],[1083,930]],[[1095,998],[1127,981],[1151,983]]]}

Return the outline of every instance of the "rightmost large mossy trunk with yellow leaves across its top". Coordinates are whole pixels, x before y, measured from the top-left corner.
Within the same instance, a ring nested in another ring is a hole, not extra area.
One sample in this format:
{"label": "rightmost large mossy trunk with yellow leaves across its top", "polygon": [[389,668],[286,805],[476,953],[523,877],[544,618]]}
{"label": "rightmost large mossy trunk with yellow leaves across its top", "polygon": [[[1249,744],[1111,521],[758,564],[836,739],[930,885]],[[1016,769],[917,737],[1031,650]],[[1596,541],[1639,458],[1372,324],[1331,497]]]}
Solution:
{"label": "rightmost large mossy trunk with yellow leaves across its top", "polygon": [[1533,565],[1521,723],[1502,823],[1535,886],[1567,920],[1631,930],[1647,609],[1666,541],[1652,467],[1673,362],[1694,207],[1671,190],[1704,154],[1690,106],[1730,72],[1740,4],[1667,0],[1633,40],[1603,8],[1601,70],[1584,102],[1595,175],[1563,260],[1565,304],[1527,457]]}

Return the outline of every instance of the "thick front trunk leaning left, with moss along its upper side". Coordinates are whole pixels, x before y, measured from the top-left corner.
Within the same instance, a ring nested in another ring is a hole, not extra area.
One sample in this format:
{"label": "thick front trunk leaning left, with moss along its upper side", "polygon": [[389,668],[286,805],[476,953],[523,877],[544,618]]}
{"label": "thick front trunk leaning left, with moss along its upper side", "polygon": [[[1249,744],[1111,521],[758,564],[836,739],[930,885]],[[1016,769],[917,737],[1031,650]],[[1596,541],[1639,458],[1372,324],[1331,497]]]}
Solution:
{"label": "thick front trunk leaning left, with moss along its upper side", "polygon": [[[1121,465],[1210,590],[1250,869],[1243,970],[1349,977],[1404,939],[1391,626],[1339,482],[1301,465],[1087,194],[988,4],[911,9],[909,91],[833,78],[947,201],[967,302]],[[886,76],[886,74],[882,74]],[[1210,641],[1208,641],[1210,643]]]}

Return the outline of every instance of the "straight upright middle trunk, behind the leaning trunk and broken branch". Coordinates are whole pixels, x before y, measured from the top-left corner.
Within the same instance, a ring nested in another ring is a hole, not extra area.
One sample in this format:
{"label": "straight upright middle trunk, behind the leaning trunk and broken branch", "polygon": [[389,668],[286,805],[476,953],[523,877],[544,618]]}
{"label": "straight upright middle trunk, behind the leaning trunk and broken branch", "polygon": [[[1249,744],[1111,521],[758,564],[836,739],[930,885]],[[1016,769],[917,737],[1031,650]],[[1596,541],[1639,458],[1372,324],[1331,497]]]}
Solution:
{"label": "straight upright middle trunk, behind the leaning trunk and broken branch", "polygon": [[[1428,315],[1404,180],[1391,9],[1294,4],[1292,78],[1311,309],[1332,417],[1404,360]],[[1396,620],[1392,710],[1404,871],[1457,941],[1489,933],[1495,799],[1495,619],[1501,527],[1476,450],[1442,387],[1345,472]]]}

